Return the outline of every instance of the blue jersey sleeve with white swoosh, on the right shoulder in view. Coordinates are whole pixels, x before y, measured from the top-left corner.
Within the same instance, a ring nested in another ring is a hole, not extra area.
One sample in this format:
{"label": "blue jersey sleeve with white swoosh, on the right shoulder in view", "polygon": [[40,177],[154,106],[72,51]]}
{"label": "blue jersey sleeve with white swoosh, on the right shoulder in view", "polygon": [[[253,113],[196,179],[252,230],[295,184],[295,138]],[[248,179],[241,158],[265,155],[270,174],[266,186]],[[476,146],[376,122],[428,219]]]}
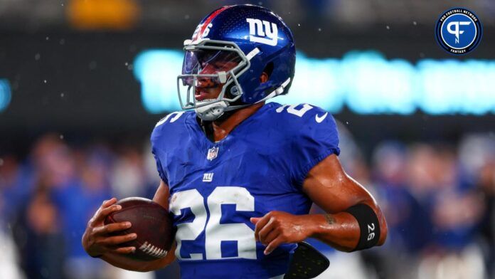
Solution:
{"label": "blue jersey sleeve with white swoosh, on the right shoulder in view", "polygon": [[300,119],[292,141],[291,174],[294,184],[302,186],[310,169],[331,154],[340,154],[339,133],[334,117],[313,107]]}

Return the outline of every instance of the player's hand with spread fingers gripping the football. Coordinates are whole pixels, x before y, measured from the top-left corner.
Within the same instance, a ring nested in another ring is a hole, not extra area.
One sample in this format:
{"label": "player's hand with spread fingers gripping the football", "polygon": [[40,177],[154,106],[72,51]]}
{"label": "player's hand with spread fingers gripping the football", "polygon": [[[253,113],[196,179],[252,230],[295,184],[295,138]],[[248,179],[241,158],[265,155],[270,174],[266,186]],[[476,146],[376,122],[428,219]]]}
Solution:
{"label": "player's hand with spread fingers gripping the football", "polygon": [[117,199],[112,198],[103,201],[103,204],[87,222],[86,231],[82,235],[82,247],[86,253],[92,257],[102,256],[105,253],[120,253],[127,254],[136,250],[134,247],[119,247],[120,243],[132,241],[137,238],[136,233],[129,233],[124,236],[110,236],[109,233],[115,231],[123,231],[130,228],[130,222],[109,223],[105,225],[105,218],[114,211],[119,211],[122,206],[119,206]]}

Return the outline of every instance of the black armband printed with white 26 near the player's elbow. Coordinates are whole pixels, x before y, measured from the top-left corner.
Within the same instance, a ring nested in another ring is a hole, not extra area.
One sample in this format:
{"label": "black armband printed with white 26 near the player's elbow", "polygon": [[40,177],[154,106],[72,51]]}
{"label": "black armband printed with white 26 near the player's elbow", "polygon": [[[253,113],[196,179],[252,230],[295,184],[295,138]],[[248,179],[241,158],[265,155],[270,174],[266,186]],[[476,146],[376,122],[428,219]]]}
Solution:
{"label": "black armband printed with white 26 near the player's elbow", "polygon": [[353,251],[363,250],[376,246],[380,239],[380,223],[375,211],[366,204],[356,204],[346,209],[348,214],[356,218],[361,230],[358,246]]}

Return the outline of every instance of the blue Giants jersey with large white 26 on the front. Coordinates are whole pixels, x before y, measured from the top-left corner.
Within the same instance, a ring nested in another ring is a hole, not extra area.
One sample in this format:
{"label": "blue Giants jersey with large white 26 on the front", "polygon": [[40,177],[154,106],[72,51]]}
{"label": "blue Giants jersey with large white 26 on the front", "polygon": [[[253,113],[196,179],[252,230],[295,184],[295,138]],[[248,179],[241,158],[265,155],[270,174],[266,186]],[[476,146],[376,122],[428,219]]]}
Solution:
{"label": "blue Giants jersey with large white 26 on the front", "polygon": [[302,182],[314,165],[339,154],[336,124],[312,105],[270,102],[219,142],[195,112],[173,112],[151,135],[161,179],[169,185],[181,278],[270,278],[284,274],[296,244],[265,256],[251,217],[308,214]]}

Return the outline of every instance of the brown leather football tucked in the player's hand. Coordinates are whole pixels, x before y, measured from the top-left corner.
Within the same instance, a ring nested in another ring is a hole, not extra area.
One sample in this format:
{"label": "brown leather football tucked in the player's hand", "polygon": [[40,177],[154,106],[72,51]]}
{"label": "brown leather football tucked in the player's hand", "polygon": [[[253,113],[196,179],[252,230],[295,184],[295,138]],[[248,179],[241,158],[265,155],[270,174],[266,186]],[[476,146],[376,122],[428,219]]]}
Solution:
{"label": "brown leather football tucked in the player's hand", "polygon": [[134,260],[151,261],[164,258],[174,241],[174,229],[169,212],[149,199],[130,197],[117,204],[119,211],[112,212],[105,219],[105,224],[129,221],[132,226],[114,235],[136,233],[133,241],[120,244],[122,247],[134,246],[136,251],[126,256]]}

